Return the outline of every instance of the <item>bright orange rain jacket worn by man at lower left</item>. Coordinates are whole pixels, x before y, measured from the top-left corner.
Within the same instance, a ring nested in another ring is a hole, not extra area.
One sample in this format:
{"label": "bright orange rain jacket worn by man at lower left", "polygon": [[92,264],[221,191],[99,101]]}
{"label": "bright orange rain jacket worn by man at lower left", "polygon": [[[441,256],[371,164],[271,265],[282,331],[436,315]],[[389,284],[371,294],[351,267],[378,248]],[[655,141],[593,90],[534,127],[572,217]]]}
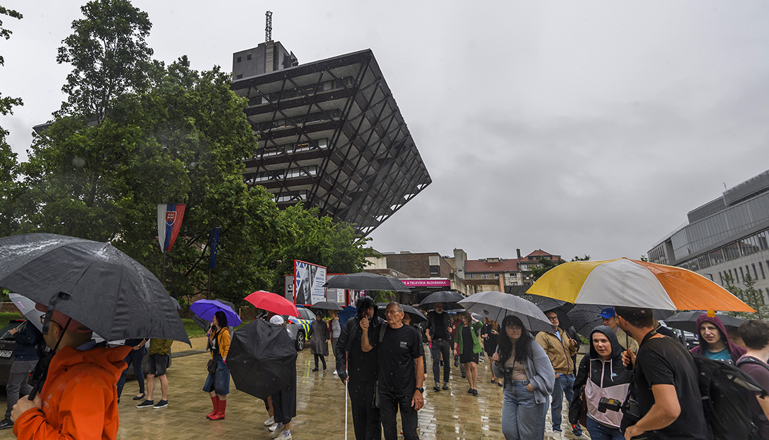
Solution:
{"label": "bright orange rain jacket worn by man at lower left", "polygon": [[116,385],[131,347],[59,350],[48,367],[42,410],[30,409],[13,424],[18,440],[114,440],[118,435]]}

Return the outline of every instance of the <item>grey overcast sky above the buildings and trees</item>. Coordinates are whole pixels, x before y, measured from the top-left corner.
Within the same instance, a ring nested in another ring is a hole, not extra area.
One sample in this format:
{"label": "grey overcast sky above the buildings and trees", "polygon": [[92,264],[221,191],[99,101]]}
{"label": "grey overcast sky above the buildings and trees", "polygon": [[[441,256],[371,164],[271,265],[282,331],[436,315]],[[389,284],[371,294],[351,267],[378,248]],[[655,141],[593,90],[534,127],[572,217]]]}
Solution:
{"label": "grey overcast sky above the buildings and trees", "polygon": [[[56,51],[84,3],[0,0],[24,15],[0,18],[22,159],[64,99]],[[155,58],[196,69],[231,71],[268,9],[300,64],[371,48],[433,180],[371,234],[381,252],[638,258],[769,169],[767,2],[133,4]]]}

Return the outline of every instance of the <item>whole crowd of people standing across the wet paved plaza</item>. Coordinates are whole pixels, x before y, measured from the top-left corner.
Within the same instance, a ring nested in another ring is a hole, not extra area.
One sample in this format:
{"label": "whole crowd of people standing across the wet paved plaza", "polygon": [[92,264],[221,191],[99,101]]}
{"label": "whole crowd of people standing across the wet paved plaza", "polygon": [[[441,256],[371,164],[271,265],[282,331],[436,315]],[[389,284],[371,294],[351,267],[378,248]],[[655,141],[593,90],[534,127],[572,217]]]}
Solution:
{"label": "whole crowd of people standing across the wet paved plaza", "polygon": [[[592,329],[587,353],[578,359],[581,338],[561,327],[554,310],[545,312],[551,330],[533,333],[517,316],[506,316],[502,323],[481,322],[470,313],[451,316],[441,303],[434,304],[423,327],[412,325],[414,316],[398,303],[388,304],[384,319],[370,297],[358,299],[356,309],[344,326],[335,313],[328,314],[328,322],[318,316],[309,345],[315,356],[313,371],[318,371],[321,366],[326,369],[331,342],[335,373],[347,389],[358,440],[398,438],[398,413],[401,435],[418,438],[418,411],[428,379],[424,342],[431,353],[436,393],[449,389],[451,359],[458,356],[454,365],[464,366],[468,393],[478,395],[478,362],[485,352],[491,361],[491,382],[503,387],[501,427],[507,440],[544,438],[548,409],[551,437],[561,438],[564,399],[571,438],[586,438],[583,428],[594,440],[712,438],[719,428],[715,419],[723,415],[702,403],[704,365],[710,371],[727,369],[755,385],[743,402],[748,405],[743,416],[753,430],[750,438],[769,438],[769,395],[764,391],[769,390],[769,324],[763,321],[747,320],[730,333],[717,316],[703,313],[696,322],[699,345],[690,352],[680,339],[667,336],[670,330],[654,319],[651,309],[607,308],[599,316],[603,325]],[[141,358],[146,339],[128,339],[115,348],[96,346],[91,330],[82,324],[58,311],[46,316],[50,322],[43,333],[28,322],[12,330],[15,360],[6,387],[8,411],[0,428],[13,428],[18,438],[25,439],[86,434],[115,438],[115,402],[129,365],[139,382],[133,399],[143,400],[137,408],[168,405],[165,373],[170,341],[149,340],[145,394]],[[265,319],[285,326],[274,313]],[[207,336],[211,359],[202,390],[213,405],[207,417],[220,420],[225,418],[230,391],[231,334],[225,313],[215,314]],[[55,354],[52,359],[38,361],[35,346],[41,341]],[[19,399],[31,391],[25,379],[37,362],[49,364],[45,384],[34,399]],[[161,384],[157,403],[155,377]],[[44,406],[46,411],[39,411]],[[265,409],[271,437],[291,440],[295,366],[291,382],[265,399]],[[740,429],[739,422],[731,422]]]}

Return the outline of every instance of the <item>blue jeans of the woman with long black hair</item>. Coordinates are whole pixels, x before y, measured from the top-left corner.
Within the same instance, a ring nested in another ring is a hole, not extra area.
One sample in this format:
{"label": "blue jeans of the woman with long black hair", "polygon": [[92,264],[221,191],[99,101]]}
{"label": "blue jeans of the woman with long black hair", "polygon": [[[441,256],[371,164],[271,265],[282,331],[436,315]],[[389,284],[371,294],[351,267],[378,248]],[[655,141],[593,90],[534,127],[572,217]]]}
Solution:
{"label": "blue jeans of the woman with long black hair", "polygon": [[548,402],[537,403],[534,392],[526,389],[528,380],[504,382],[502,434],[505,440],[544,438],[544,418]]}

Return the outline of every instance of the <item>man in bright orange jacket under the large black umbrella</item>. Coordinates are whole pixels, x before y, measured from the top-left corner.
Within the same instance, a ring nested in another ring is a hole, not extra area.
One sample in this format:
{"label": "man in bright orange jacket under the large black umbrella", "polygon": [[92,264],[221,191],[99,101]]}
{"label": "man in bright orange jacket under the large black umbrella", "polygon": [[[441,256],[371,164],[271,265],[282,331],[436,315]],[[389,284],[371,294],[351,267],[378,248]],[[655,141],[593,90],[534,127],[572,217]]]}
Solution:
{"label": "man in bright orange jacket under the large black umbrella", "polygon": [[[45,311],[45,306],[37,308]],[[13,433],[19,440],[115,439],[116,385],[131,347],[95,348],[92,331],[58,311],[43,338],[55,355],[42,391],[13,407]]]}

